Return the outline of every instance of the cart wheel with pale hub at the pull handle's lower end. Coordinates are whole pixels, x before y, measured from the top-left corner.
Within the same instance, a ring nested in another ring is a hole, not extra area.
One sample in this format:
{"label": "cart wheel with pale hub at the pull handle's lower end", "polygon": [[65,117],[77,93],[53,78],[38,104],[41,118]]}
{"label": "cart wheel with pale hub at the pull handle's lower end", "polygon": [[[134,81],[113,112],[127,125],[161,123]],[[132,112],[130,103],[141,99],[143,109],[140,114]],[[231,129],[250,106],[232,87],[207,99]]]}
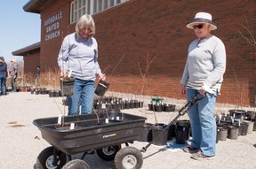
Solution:
{"label": "cart wheel with pale hub at the pull handle's lower end", "polygon": [[140,150],[134,147],[124,147],[116,153],[116,169],[139,169],[143,164]]}

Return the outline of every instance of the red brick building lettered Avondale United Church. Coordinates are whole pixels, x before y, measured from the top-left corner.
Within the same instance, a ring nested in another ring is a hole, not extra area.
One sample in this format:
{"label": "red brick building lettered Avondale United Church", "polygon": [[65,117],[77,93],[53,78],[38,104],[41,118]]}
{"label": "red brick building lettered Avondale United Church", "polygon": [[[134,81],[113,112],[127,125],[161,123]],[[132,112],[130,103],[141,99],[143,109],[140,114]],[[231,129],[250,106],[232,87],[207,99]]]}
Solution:
{"label": "red brick building lettered Avondale United Church", "polygon": [[254,0],[30,0],[23,9],[39,13],[42,20],[38,50],[22,49],[25,73],[34,72],[36,65],[43,73],[58,68],[61,41],[75,31],[79,13],[86,12],[96,23],[99,62],[111,83],[109,90],[140,94],[143,88],[144,95],[178,99],[184,99],[180,77],[188,44],[196,38],[185,23],[196,12],[210,12],[219,26],[212,34],[220,37],[227,50],[227,71],[218,103],[255,103],[256,44],[244,39],[255,42]]}

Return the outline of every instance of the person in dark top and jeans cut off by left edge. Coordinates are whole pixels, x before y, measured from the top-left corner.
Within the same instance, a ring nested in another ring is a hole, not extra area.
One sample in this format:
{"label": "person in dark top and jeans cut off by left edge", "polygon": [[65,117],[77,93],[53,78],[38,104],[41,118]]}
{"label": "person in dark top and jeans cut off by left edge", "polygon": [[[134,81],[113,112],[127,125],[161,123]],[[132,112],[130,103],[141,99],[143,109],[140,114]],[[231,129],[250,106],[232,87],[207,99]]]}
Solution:
{"label": "person in dark top and jeans cut off by left edge", "polygon": [[4,57],[0,57],[0,88],[1,94],[0,96],[6,95],[6,77],[7,73],[7,65],[4,61]]}

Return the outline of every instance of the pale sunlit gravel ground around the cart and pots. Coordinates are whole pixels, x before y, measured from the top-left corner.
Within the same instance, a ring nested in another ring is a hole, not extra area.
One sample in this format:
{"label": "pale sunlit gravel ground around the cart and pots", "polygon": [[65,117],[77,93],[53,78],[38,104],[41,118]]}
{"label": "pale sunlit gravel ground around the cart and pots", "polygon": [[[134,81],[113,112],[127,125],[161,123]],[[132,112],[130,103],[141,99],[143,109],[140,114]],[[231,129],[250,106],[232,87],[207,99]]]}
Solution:
{"label": "pale sunlit gravel ground around the cart and pots", "polygon": [[[131,96],[127,96],[130,97]],[[140,96],[139,96],[140,97]],[[167,101],[167,99],[165,100]],[[168,101],[178,104],[177,109],[185,101]],[[146,102],[145,102],[146,103]],[[144,104],[147,106],[146,104]],[[229,107],[228,107],[229,108]],[[223,110],[224,107],[221,108]],[[67,107],[62,105],[62,97],[49,97],[47,95],[31,95],[29,92],[10,93],[7,96],[0,96],[0,168],[2,169],[28,169],[33,168],[36,157],[46,147],[51,146],[46,142],[38,130],[33,125],[34,119],[56,117],[63,111],[67,112]],[[177,112],[156,112],[144,109],[124,110],[140,116],[146,116],[147,122],[169,123],[177,115]],[[155,118],[156,117],[156,118]],[[180,119],[187,119],[182,116]],[[190,158],[190,154],[183,152],[182,148],[187,144],[177,144],[173,141],[167,146],[156,146],[152,144],[146,152],[142,152],[142,169],[228,169],[228,168],[256,168],[256,132],[252,134],[238,136],[236,140],[227,139],[217,143],[217,156],[212,160],[196,161]],[[189,143],[189,142],[188,142]],[[145,147],[148,142],[134,142],[130,144],[139,150]],[[82,154],[74,155],[79,158]],[[84,160],[97,169],[112,169],[113,161],[104,161],[97,154],[86,155]]]}

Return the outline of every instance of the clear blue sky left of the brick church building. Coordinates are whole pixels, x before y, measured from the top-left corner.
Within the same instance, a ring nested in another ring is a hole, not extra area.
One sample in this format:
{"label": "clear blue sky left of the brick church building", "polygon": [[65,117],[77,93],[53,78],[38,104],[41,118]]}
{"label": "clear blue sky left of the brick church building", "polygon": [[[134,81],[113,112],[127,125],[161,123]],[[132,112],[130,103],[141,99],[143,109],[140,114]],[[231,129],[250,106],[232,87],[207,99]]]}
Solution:
{"label": "clear blue sky left of the brick church building", "polygon": [[6,62],[12,58],[23,61],[23,57],[12,56],[12,51],[40,42],[40,14],[24,12],[23,6],[28,2],[7,0],[0,5],[0,56]]}

